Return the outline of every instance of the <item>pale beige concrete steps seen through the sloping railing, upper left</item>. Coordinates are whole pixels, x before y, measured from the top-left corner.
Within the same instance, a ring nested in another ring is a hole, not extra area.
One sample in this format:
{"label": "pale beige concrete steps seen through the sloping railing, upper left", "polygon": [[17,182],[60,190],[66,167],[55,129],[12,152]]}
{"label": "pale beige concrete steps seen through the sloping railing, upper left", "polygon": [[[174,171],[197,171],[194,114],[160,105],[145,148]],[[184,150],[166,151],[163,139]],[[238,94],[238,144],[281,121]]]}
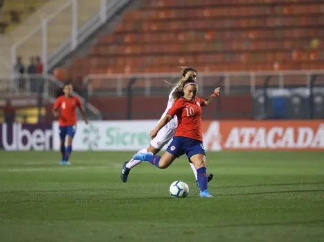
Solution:
{"label": "pale beige concrete steps seen through the sloping railing, upper left", "polygon": [[[39,8],[26,21],[8,34],[0,36],[0,56],[2,62],[5,61],[12,66],[10,50],[12,44],[19,43],[26,38],[30,32],[34,33],[17,48],[17,56],[22,56],[23,63],[28,65],[30,56],[41,56],[42,54],[42,31],[41,20],[48,20],[47,28],[47,48],[48,54],[52,54],[61,44],[70,38],[72,34],[72,4],[67,4],[68,0],[51,0]],[[59,8],[67,7],[55,14]],[[77,0],[78,28],[99,12],[101,0]],[[37,29],[38,28],[38,29]],[[1,64],[0,61],[0,89],[6,88],[6,84],[1,82],[1,78],[8,78],[10,70]]]}

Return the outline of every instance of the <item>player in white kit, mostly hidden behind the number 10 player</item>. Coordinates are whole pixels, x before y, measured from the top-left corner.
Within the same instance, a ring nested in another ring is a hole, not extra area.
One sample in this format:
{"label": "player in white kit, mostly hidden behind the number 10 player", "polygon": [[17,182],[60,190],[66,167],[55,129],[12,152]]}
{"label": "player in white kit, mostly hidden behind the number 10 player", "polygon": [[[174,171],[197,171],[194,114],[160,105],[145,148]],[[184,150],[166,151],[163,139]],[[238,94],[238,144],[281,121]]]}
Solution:
{"label": "player in white kit, mostly hidden behind the number 10 player", "polygon": [[[173,102],[174,102],[173,101],[174,95],[181,95],[179,93],[176,94],[176,92],[179,92],[179,89],[181,89],[181,85],[183,85],[183,83],[185,82],[185,80],[188,79],[189,76],[192,76],[194,78],[194,81],[196,81],[196,78],[197,78],[196,75],[197,75],[196,70],[192,67],[185,67],[183,69],[181,80],[179,80],[179,82],[176,83],[176,85],[174,85],[174,88],[172,89],[172,91],[169,94],[168,105],[167,105],[164,113],[162,114],[161,119],[165,116],[166,113],[168,113],[169,109],[172,107]],[[168,144],[170,142],[170,140],[172,139],[172,137],[176,131],[177,126],[178,126],[178,119],[176,118],[176,115],[174,115],[174,118],[170,122],[168,122],[168,124],[166,124],[159,131],[159,133],[157,133],[157,135],[154,137],[153,140],[151,140],[150,146],[148,148],[141,149],[141,151],[139,151],[138,153],[152,152],[153,155],[155,155],[156,153],[159,153],[159,151],[161,151],[161,148],[163,148],[163,146],[165,146],[165,144]],[[123,164],[123,170],[121,170],[121,181],[126,182],[128,179],[128,175],[130,173],[130,169],[132,169],[134,166],[137,166],[140,163],[141,163],[141,161],[138,159],[130,159],[129,162],[125,162]],[[196,184],[198,186],[196,168],[194,168],[194,165],[191,162],[189,164],[192,168],[192,171],[194,172],[194,177],[196,178]],[[207,176],[207,180],[211,181],[213,176],[214,176],[213,174],[209,174]]]}

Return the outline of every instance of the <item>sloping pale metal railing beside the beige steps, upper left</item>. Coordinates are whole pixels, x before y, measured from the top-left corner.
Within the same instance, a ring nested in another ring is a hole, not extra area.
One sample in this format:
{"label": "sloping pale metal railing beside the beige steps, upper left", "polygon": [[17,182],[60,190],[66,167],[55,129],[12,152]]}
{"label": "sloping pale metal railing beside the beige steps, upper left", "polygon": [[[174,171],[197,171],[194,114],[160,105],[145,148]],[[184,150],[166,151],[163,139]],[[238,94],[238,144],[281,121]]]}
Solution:
{"label": "sloping pale metal railing beside the beige steps, upper left", "polygon": [[[43,70],[46,73],[129,2],[130,0],[67,0],[48,17],[41,19],[39,25],[23,36],[18,43],[12,45],[12,65],[16,56],[20,54],[18,49],[28,52],[24,50],[28,48],[29,52],[32,52],[30,56],[42,57]],[[98,8],[85,8],[89,3],[97,3]],[[62,21],[63,19],[66,21]]]}

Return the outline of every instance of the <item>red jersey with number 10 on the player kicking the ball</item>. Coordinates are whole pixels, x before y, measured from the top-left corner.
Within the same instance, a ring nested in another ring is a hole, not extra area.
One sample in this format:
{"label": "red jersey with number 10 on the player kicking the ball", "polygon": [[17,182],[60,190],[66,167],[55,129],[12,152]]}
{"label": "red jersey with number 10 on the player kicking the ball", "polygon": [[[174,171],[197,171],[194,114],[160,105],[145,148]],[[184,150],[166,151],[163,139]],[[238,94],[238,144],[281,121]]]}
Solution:
{"label": "red jersey with number 10 on the player kicking the ball", "polygon": [[179,98],[174,102],[168,114],[178,117],[178,127],[174,136],[189,137],[190,139],[203,141],[203,132],[201,130],[201,107],[205,106],[205,100],[194,98],[186,100]]}

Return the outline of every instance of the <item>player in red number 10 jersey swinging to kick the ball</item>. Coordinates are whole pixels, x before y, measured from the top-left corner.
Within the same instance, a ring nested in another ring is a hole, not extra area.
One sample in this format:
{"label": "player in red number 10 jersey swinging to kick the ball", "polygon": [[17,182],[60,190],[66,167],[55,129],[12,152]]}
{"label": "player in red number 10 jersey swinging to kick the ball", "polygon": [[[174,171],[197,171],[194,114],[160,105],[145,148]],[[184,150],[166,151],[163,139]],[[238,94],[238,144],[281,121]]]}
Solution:
{"label": "player in red number 10 jersey swinging to kick the ball", "polygon": [[168,113],[159,122],[150,136],[153,139],[159,131],[168,124],[176,115],[178,127],[171,144],[168,146],[162,157],[152,153],[137,153],[133,159],[148,161],[154,166],[165,169],[172,164],[174,159],[186,154],[188,159],[194,164],[198,174],[198,183],[201,190],[200,197],[212,197],[207,190],[207,174],[205,164],[205,149],[203,148],[203,133],[201,131],[201,107],[219,96],[220,88],[214,90],[214,94],[205,100],[196,97],[198,84],[192,79],[183,83],[183,96],[177,99]]}

